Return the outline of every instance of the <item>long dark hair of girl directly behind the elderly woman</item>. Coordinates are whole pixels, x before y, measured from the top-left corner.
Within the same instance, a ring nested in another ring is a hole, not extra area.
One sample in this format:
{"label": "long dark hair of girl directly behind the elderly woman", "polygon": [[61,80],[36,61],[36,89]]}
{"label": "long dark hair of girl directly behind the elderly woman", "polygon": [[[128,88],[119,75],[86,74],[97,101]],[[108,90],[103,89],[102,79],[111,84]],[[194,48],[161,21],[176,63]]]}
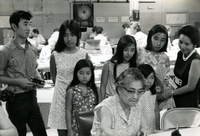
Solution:
{"label": "long dark hair of girl directly behind the elderly woman", "polygon": [[112,58],[110,59],[110,61],[112,63],[114,63],[114,79],[116,78],[116,69],[117,69],[117,65],[123,63],[124,60],[124,49],[131,46],[131,45],[135,45],[135,53],[133,55],[133,57],[129,60],[129,67],[137,67],[137,43],[136,40],[133,36],[130,35],[124,35],[119,39],[119,42],[117,44],[117,50],[116,53],[112,56]]}

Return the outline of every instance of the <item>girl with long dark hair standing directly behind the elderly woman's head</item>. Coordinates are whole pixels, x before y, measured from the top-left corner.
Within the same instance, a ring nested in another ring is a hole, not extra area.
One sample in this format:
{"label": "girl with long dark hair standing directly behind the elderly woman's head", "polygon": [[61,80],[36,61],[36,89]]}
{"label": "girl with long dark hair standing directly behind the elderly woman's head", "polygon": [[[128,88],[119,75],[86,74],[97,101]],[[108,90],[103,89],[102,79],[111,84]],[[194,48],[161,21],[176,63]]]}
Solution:
{"label": "girl with long dark hair standing directly behind the elderly woman's head", "polygon": [[115,79],[127,68],[136,67],[137,44],[135,38],[124,35],[117,44],[117,51],[104,65],[101,74],[101,99],[116,94]]}

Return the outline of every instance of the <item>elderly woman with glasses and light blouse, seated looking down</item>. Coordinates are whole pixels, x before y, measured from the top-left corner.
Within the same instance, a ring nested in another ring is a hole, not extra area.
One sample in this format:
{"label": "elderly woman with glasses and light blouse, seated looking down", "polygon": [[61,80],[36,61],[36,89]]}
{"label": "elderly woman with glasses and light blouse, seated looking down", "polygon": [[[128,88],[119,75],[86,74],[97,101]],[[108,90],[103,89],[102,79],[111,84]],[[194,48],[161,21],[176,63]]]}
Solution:
{"label": "elderly woman with glasses and light blouse, seated looking down", "polygon": [[128,68],[115,80],[116,92],[94,109],[92,136],[137,136],[147,133],[138,100],[144,93],[144,77],[137,68]]}

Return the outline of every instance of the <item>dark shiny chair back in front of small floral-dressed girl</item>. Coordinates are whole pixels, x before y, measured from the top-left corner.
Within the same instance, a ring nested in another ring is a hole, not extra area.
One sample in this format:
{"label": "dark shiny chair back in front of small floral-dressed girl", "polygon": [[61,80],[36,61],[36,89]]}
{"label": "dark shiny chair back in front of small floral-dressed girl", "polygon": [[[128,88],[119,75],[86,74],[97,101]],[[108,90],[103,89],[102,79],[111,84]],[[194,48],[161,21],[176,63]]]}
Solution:
{"label": "dark shiny chair back in front of small floral-dressed girl", "polygon": [[90,136],[90,131],[92,129],[94,112],[76,112],[76,121],[78,124],[78,131],[80,136]]}

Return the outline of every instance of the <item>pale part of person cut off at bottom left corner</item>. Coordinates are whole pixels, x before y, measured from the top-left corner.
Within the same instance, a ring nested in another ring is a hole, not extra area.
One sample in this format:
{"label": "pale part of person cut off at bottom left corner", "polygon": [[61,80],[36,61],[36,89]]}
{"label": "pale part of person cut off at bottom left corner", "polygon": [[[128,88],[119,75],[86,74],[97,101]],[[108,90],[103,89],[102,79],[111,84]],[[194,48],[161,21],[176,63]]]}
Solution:
{"label": "pale part of person cut off at bottom left corner", "polygon": [[[0,91],[1,97],[1,91]],[[5,113],[0,101],[0,136],[18,136],[16,127]]]}

